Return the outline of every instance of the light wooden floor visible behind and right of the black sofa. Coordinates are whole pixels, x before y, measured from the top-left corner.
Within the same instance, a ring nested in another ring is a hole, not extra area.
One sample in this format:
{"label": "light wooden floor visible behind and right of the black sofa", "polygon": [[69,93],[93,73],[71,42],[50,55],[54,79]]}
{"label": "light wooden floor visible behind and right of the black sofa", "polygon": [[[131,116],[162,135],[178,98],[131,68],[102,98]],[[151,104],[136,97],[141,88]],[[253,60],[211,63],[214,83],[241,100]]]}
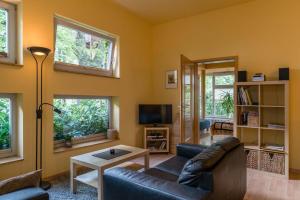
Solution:
{"label": "light wooden floor visible behind and right of the black sofa", "polygon": [[[172,156],[152,154],[150,166],[155,166]],[[136,162],[142,163],[142,160],[137,159]],[[287,180],[249,169],[247,194],[244,200],[300,200],[300,175],[291,175],[291,177],[293,180]]]}

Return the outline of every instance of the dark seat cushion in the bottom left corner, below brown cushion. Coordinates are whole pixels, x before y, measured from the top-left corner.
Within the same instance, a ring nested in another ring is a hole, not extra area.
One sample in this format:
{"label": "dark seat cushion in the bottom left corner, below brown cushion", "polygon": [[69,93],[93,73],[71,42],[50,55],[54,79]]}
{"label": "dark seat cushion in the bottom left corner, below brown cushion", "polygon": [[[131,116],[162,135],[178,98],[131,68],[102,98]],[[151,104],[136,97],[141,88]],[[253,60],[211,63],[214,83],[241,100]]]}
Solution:
{"label": "dark seat cushion in the bottom left corner, below brown cushion", "polygon": [[0,196],[0,200],[48,200],[49,195],[41,188],[26,188],[4,194]]}

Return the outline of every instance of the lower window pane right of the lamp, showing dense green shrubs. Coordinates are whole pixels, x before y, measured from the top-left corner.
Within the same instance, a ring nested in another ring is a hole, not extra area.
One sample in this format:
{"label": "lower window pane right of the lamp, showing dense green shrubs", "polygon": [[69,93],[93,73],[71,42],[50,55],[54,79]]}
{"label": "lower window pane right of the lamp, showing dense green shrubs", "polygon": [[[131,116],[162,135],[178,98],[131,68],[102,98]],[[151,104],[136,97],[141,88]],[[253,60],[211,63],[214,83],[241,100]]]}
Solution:
{"label": "lower window pane right of the lamp, showing dense green shrubs", "polygon": [[82,143],[106,138],[111,127],[110,97],[57,96],[53,104],[62,111],[54,113],[55,141],[71,137]]}

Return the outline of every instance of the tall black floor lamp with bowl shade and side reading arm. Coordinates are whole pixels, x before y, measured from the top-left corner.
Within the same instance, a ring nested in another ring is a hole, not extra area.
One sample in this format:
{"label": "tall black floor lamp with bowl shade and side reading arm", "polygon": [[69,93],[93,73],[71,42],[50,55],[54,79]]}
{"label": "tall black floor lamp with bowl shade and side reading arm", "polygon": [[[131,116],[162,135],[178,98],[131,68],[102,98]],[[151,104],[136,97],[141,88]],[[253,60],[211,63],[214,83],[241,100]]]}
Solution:
{"label": "tall black floor lamp with bowl shade and side reading arm", "polygon": [[[43,106],[48,105],[51,106],[54,110],[54,112],[61,114],[61,111],[53,106],[50,103],[44,103],[43,102],[43,64],[46,58],[48,57],[49,53],[51,52],[50,49],[45,48],[45,47],[29,47],[28,50],[30,51],[32,57],[35,60],[36,64],[36,153],[35,153],[35,168],[36,170],[42,169],[42,161],[43,161]],[[39,66],[39,60],[40,66]],[[40,71],[40,92],[39,92],[39,71]],[[40,97],[40,98],[39,98]],[[40,126],[39,126],[40,123]],[[40,131],[39,131],[40,128]],[[40,133],[40,137],[39,137]],[[40,139],[40,140],[39,140]],[[40,156],[40,165],[38,166],[38,140],[40,142],[40,151],[39,151],[39,156]],[[48,190],[51,188],[51,183],[47,181],[42,181],[40,182],[40,187]]]}

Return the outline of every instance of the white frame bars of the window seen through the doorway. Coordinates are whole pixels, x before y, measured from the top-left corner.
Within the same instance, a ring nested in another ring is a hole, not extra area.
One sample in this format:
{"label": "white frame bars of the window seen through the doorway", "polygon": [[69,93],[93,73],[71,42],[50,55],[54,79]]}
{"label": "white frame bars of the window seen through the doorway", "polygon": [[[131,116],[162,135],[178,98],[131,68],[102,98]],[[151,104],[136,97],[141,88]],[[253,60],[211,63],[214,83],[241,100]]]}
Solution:
{"label": "white frame bars of the window seen through the doorway", "polygon": [[232,85],[216,85],[216,82],[215,82],[216,76],[226,76],[226,75],[233,75],[233,78],[235,78],[234,72],[213,72],[213,73],[206,74],[206,76],[212,76],[212,103],[213,103],[213,115],[206,116],[206,118],[224,119],[224,120],[233,119],[233,118],[222,117],[222,116],[216,115],[215,90],[216,89],[232,89],[233,94],[234,94],[234,83]]}

